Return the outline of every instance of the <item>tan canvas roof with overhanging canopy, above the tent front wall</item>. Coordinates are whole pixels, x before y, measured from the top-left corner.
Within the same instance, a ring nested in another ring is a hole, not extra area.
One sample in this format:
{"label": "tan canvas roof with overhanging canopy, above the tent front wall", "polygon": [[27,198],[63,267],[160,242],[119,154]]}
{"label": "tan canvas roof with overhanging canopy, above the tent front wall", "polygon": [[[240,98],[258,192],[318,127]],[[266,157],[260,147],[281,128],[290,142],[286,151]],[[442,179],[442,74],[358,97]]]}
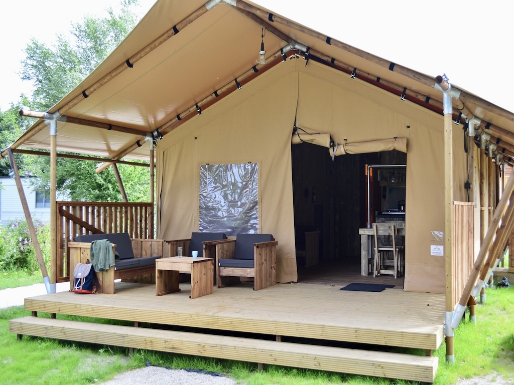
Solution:
{"label": "tan canvas roof with overhanging canopy, above the tent front wall", "polygon": [[[354,72],[398,97],[405,94],[407,103],[442,112],[443,93],[434,88],[439,74],[401,67],[252,2],[221,2],[208,10],[215,3],[157,1],[118,48],[48,111],[75,118],[58,123],[58,151],[148,160],[145,136],[165,135],[292,54],[348,76]],[[262,27],[268,64],[256,65]],[[465,90],[461,95],[462,103],[454,106],[478,118],[479,131],[491,133],[507,160],[514,158],[514,114]],[[35,122],[12,148],[49,149],[44,121]]]}

